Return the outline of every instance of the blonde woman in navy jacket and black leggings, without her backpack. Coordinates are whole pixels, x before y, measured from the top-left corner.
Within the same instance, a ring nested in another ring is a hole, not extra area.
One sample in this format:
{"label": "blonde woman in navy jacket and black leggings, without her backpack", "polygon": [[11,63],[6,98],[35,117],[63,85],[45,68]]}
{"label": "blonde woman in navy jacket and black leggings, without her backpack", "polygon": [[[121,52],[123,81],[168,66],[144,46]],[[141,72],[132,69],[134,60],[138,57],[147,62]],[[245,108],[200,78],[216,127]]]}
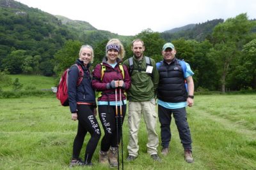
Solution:
{"label": "blonde woman in navy jacket and black leggings, without her backpack", "polygon": [[[80,85],[77,86],[77,80],[79,79],[78,67],[72,66],[68,71],[68,101],[70,111],[72,113],[72,120],[78,120],[70,167],[92,166],[92,156],[100,139],[100,127],[95,117],[97,114],[97,105],[95,93],[92,89],[92,76],[89,70],[93,57],[92,46],[81,46],[79,59],[76,61],[77,66],[82,67],[84,73]],[[79,154],[87,132],[90,133],[91,138],[86,145],[83,161],[79,158]]]}

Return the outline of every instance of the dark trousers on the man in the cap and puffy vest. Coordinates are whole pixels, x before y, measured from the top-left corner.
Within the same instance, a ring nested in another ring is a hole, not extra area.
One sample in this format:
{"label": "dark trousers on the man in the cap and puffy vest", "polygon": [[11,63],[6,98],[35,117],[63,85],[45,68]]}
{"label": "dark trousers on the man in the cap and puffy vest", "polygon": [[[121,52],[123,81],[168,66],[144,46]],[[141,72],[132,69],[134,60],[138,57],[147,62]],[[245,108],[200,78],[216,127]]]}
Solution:
{"label": "dark trousers on the man in the cap and puffy vest", "polygon": [[175,119],[175,124],[177,125],[180,141],[183,145],[184,150],[192,150],[192,139],[187,121],[186,108],[167,109],[163,106],[158,105],[158,117],[161,124],[161,145],[163,146],[163,148],[168,148],[170,144],[170,140],[172,138],[170,128],[172,114]]}

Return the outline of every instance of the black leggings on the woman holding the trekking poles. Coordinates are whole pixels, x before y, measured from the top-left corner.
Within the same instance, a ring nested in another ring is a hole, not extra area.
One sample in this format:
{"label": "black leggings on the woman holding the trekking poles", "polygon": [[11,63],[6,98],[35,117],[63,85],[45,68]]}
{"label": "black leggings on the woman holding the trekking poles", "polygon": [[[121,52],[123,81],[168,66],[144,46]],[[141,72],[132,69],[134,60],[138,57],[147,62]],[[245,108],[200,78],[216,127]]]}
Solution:
{"label": "black leggings on the woman holding the trekking poles", "polygon": [[[124,122],[126,104],[122,105],[122,124]],[[116,106],[99,105],[99,117],[104,129],[104,136],[101,140],[100,150],[107,152],[112,147],[117,147],[121,136],[120,106],[118,106],[118,139],[116,134]],[[117,142],[118,140],[118,142]]]}

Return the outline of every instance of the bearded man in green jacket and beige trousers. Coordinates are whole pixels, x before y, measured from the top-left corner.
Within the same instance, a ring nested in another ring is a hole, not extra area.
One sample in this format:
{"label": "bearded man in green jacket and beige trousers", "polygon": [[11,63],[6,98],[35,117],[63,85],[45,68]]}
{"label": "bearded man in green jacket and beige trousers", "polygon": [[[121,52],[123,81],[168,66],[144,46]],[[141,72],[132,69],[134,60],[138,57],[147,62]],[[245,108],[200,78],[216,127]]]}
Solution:
{"label": "bearded man in green jacket and beige trousers", "polygon": [[161,160],[157,155],[159,140],[156,133],[156,89],[159,81],[159,74],[156,69],[156,62],[154,59],[144,56],[144,50],[145,46],[143,41],[141,39],[135,39],[132,41],[133,57],[124,61],[131,76],[131,87],[127,92],[127,99],[129,100],[128,161],[138,157],[138,131],[141,115],[143,115],[147,126],[147,152],[152,159],[157,161]]}

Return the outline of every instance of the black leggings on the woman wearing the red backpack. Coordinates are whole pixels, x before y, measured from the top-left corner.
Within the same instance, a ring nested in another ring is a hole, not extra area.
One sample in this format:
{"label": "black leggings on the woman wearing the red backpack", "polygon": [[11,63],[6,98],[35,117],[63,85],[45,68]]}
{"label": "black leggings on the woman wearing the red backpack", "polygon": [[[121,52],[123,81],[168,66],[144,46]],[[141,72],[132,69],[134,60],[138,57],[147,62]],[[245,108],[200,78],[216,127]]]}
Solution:
{"label": "black leggings on the woman wearing the red backpack", "polygon": [[99,143],[101,135],[100,127],[97,119],[93,115],[93,106],[78,104],[77,110],[78,127],[76,138],[74,139],[72,158],[79,158],[79,154],[84,143],[84,137],[87,132],[90,132],[91,138],[87,143],[84,154],[84,162],[86,164],[89,164],[91,163],[92,155],[95,152],[95,149]]}

